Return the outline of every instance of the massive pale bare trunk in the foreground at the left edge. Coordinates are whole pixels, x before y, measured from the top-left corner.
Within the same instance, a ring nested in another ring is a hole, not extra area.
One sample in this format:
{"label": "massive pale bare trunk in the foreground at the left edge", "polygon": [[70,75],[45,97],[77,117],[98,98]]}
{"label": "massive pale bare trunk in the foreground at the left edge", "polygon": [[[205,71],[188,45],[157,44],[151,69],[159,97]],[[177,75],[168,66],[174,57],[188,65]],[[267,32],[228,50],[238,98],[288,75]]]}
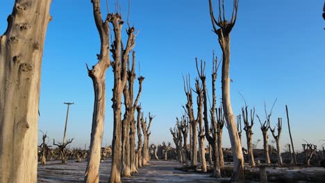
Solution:
{"label": "massive pale bare trunk in the foreground at the left edge", "polygon": [[0,182],[36,182],[43,46],[51,0],[16,0],[0,36]]}

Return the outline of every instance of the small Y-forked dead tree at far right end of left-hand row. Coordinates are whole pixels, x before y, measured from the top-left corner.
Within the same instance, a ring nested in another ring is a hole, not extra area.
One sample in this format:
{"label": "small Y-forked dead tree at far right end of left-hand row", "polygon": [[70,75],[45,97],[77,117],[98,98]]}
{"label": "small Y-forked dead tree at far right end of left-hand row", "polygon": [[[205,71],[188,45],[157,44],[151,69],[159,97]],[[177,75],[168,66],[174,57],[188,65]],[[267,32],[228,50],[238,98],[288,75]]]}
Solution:
{"label": "small Y-forked dead tree at far right end of left-hand row", "polygon": [[143,115],[142,115],[142,120],[141,120],[141,127],[142,127],[142,133],[143,133],[143,152],[142,152],[142,166],[145,166],[147,164],[147,162],[149,162],[149,137],[151,132],[149,132],[150,130],[150,126],[151,126],[151,122],[152,120],[155,118],[155,116],[152,116],[149,112],[149,125],[147,126],[147,118],[143,119]]}

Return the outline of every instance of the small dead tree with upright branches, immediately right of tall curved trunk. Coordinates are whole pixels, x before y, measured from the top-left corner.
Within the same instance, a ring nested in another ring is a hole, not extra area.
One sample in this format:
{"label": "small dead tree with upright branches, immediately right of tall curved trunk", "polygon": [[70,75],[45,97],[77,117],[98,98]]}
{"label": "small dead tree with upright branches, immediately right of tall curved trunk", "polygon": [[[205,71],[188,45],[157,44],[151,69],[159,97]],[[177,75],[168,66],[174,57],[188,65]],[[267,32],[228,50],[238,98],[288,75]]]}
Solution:
{"label": "small dead tree with upright branches, immediately right of tall curved trunk", "polygon": [[253,155],[253,125],[255,116],[255,107],[251,110],[251,120],[249,123],[249,114],[247,110],[247,105],[242,107],[242,120],[244,121],[244,131],[246,132],[247,150],[249,155],[249,165],[255,167],[255,160]]}

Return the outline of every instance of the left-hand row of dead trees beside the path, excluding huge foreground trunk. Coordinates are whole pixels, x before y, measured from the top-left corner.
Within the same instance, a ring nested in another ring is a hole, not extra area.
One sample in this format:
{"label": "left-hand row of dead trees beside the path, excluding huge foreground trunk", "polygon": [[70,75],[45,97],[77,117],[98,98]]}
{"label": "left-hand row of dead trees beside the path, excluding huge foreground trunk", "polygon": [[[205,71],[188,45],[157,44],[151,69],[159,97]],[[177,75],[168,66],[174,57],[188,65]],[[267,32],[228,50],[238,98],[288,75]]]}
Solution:
{"label": "left-hand row of dead trees beside the path, excluding huge foreground trunk", "polygon": [[[135,37],[138,33],[128,24],[126,28],[126,43],[122,40],[124,20],[119,12],[109,13],[102,18],[100,1],[92,0],[94,20],[101,37],[98,62],[92,69],[88,68],[88,75],[94,86],[94,113],[92,117],[92,133],[90,153],[85,171],[85,182],[99,182],[100,149],[103,137],[103,121],[106,107],[106,71],[113,68],[113,141],[112,168],[110,182],[119,183],[122,177],[131,177],[139,167],[149,161],[150,127],[154,116],[149,113],[148,119],[141,112],[138,104],[142,92],[144,77],[138,77],[139,89],[134,98],[133,85],[135,82]],[[128,23],[128,22],[127,22]],[[113,26],[113,28],[110,28]],[[110,40],[113,35],[113,40]],[[112,42],[111,45],[110,41]],[[110,59],[110,53],[113,60]],[[124,99],[124,115],[122,116],[122,98]],[[135,120],[135,111],[137,119]],[[141,133],[142,131],[142,133]],[[135,144],[135,134],[138,132],[138,147]],[[143,134],[143,141],[142,141]]]}

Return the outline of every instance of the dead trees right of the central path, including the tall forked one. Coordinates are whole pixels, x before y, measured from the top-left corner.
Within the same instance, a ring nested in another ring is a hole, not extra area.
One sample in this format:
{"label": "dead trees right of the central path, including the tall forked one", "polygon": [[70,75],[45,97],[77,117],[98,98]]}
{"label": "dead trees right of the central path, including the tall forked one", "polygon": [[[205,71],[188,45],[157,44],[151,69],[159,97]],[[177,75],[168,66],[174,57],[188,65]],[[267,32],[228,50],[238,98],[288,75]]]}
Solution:
{"label": "dead trees right of the central path, including the tall forked one", "polygon": [[[252,137],[253,137],[253,118],[255,116],[255,110],[251,110],[251,119],[249,121],[249,114],[247,105],[242,108],[242,118],[238,116],[237,123],[235,121],[235,115],[233,114],[231,106],[230,96],[230,82],[229,66],[230,66],[230,34],[231,30],[235,26],[235,21],[238,15],[238,0],[233,1],[233,12],[231,20],[225,18],[224,0],[219,0],[219,16],[215,18],[213,12],[212,0],[209,0],[210,18],[213,24],[213,31],[218,36],[218,42],[222,49],[222,62],[217,61],[217,58],[213,54],[213,71],[212,76],[212,105],[208,107],[210,99],[208,98],[208,89],[206,87],[206,63],[201,61],[197,64],[198,77],[195,79],[195,86],[192,88],[190,85],[190,76],[183,78],[184,91],[187,97],[187,103],[185,105],[185,115],[181,119],[176,119],[176,127],[174,130],[171,128],[174,143],[176,145],[176,151],[178,154],[178,160],[189,164],[188,159],[191,159],[190,166],[197,166],[197,143],[199,141],[199,157],[201,162],[201,171],[206,172],[206,159],[205,159],[205,138],[208,140],[209,147],[212,151],[213,159],[213,177],[221,177],[220,167],[223,166],[223,151],[222,151],[222,128],[226,125],[228,129],[229,139],[231,141],[231,148],[233,150],[233,177],[235,182],[244,182],[244,156],[242,153],[241,143],[241,119],[244,120],[244,130],[247,134],[247,147],[249,148],[249,162],[251,166],[255,166],[253,160],[252,149]],[[219,64],[222,63],[222,105],[217,108],[217,99],[215,94],[215,81],[217,79],[217,70]],[[197,94],[197,115],[194,116],[193,110],[193,95],[192,91]],[[272,107],[273,108],[273,107]],[[287,110],[288,111],[288,110]],[[271,130],[272,136],[276,140],[278,151],[278,164],[282,164],[281,151],[280,151],[280,137],[282,130],[282,120],[278,119],[277,133],[275,128],[270,128],[270,117],[272,114],[267,114],[265,107],[266,120],[260,121],[261,130],[263,131],[265,158],[267,164],[269,164],[268,146],[267,146],[267,131]],[[249,123],[250,122],[250,123]],[[190,150],[187,146],[187,136],[190,131]],[[291,137],[291,134],[290,134]],[[183,141],[183,142],[182,142]],[[293,146],[292,146],[293,148]],[[190,157],[190,158],[189,158]],[[295,160],[294,160],[295,161]]]}

